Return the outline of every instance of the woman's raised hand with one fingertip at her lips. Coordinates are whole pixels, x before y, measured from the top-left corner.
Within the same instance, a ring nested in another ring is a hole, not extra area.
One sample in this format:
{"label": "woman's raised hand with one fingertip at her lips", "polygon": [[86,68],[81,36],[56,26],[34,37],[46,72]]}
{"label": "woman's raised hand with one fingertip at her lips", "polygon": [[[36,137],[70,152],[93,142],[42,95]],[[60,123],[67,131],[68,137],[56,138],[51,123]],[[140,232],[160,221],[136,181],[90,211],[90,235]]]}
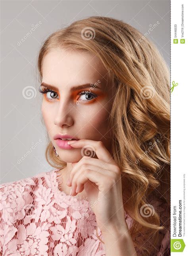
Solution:
{"label": "woman's raised hand with one fingertip at her lips", "polygon": [[[71,147],[92,146],[98,157],[83,156],[73,163],[69,173],[71,195],[86,191],[90,207],[96,215],[98,227],[102,232],[109,229],[127,230],[123,208],[121,171],[109,151],[101,141],[81,139],[70,141]],[[77,190],[77,192],[76,192]]]}

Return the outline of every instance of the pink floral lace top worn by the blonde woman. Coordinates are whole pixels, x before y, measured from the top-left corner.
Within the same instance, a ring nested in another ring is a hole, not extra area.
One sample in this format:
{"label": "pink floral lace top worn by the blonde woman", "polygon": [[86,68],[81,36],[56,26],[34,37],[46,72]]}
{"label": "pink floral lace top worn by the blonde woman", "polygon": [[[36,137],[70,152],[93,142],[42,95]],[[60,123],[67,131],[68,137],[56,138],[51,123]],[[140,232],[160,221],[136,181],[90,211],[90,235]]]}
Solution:
{"label": "pink floral lace top worn by the blonde woman", "polygon": [[[0,185],[0,255],[105,255],[89,202],[60,191],[58,175],[56,169]],[[163,205],[153,203],[160,205],[163,215]],[[130,228],[132,219],[126,212],[125,219]],[[143,242],[142,235],[136,239]],[[161,232],[152,255],[170,255],[169,241],[169,231]]]}

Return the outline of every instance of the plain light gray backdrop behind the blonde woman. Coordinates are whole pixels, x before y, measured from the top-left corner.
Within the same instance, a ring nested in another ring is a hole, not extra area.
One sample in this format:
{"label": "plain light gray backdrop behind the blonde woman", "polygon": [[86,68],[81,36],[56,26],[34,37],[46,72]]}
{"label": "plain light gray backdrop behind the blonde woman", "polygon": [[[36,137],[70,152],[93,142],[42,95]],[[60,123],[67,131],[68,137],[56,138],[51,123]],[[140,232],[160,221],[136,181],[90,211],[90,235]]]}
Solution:
{"label": "plain light gray backdrop behind the blonde woman", "polygon": [[[107,16],[123,20],[150,38],[170,68],[170,1],[1,1],[1,170],[0,184],[53,168],[45,159],[46,129],[41,122],[37,55],[44,40],[75,20]],[[41,23],[25,41],[24,36]],[[25,95],[25,94],[24,94]],[[31,148],[33,146],[33,149]],[[24,155],[27,153],[27,156]],[[19,159],[23,160],[19,162]]]}

